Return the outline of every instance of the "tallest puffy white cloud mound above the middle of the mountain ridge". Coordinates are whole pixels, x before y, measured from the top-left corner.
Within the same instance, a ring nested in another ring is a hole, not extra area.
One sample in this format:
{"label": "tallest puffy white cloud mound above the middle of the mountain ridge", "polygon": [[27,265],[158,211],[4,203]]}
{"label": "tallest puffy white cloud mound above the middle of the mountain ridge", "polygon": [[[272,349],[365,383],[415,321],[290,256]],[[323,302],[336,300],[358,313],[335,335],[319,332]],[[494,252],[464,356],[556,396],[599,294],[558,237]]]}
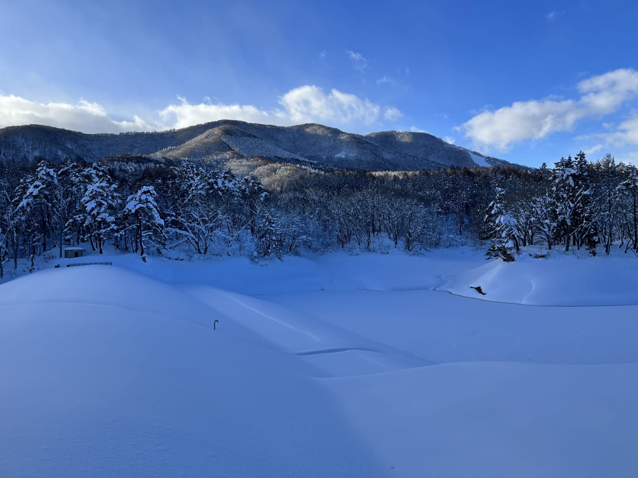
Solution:
{"label": "tallest puffy white cloud mound above the middle of the mountain ridge", "polygon": [[336,124],[373,124],[380,106],[369,99],[332,89],[326,94],[315,85],[292,89],[279,98],[279,104],[293,123],[330,122]]}

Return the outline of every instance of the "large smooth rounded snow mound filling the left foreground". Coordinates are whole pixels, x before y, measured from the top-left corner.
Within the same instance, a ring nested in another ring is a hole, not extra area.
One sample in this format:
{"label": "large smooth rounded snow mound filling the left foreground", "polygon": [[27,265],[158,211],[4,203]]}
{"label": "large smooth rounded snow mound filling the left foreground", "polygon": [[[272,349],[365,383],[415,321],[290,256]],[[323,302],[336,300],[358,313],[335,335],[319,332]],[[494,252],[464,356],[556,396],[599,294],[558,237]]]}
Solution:
{"label": "large smooth rounded snow mound filling the left foreground", "polygon": [[379,475],[304,361],[171,286],[51,270],[0,307],[0,475]]}

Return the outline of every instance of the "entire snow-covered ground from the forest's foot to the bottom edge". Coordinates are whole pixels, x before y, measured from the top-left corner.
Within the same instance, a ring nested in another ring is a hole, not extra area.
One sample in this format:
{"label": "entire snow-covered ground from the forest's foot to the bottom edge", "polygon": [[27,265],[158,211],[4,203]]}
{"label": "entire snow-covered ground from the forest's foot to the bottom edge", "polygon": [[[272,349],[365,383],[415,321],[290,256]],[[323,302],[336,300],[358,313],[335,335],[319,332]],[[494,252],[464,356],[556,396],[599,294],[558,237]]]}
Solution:
{"label": "entire snow-covered ground from the forest's foot to the bottom edge", "polygon": [[51,261],[0,283],[0,476],[634,477],[638,258],[536,252]]}

